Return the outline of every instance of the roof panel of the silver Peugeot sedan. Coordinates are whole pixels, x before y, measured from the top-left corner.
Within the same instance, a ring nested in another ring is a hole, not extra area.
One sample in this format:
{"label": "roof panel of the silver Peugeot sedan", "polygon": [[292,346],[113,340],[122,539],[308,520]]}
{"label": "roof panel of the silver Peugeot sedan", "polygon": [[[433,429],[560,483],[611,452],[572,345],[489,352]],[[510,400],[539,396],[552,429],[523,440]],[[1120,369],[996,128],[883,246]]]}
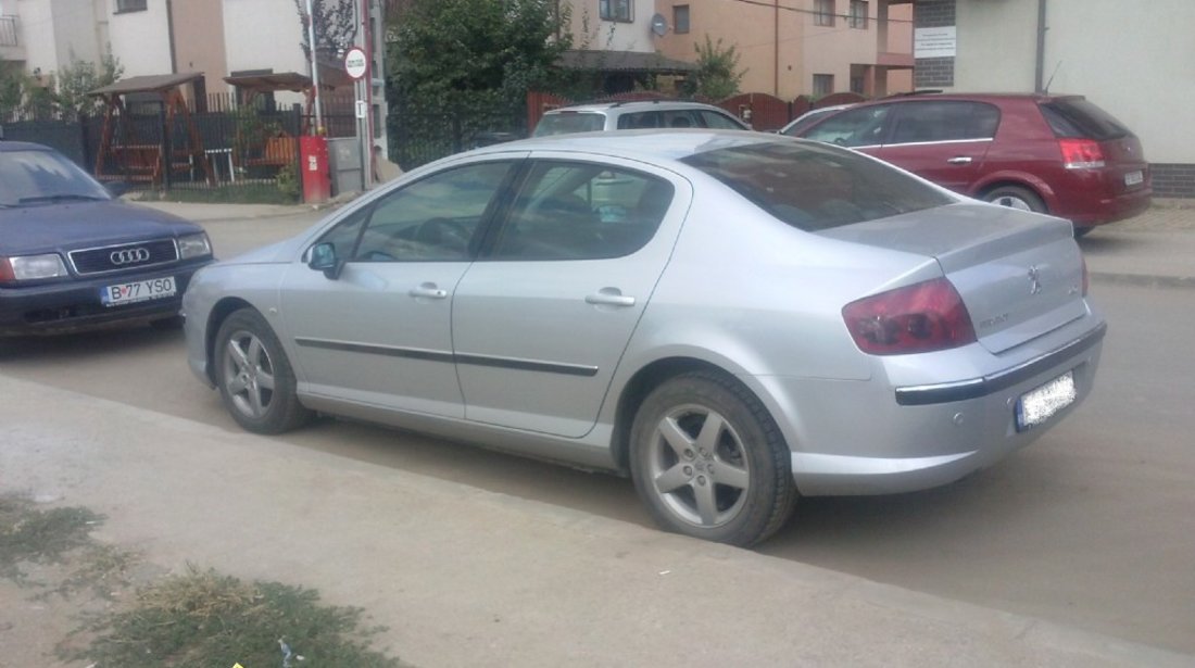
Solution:
{"label": "roof panel of the silver Peugeot sedan", "polygon": [[467,155],[527,152],[575,151],[595,155],[652,160],[680,160],[690,155],[722,148],[736,148],[777,141],[795,141],[774,134],[750,130],[619,130],[617,133],[576,133],[531,137],[471,151]]}

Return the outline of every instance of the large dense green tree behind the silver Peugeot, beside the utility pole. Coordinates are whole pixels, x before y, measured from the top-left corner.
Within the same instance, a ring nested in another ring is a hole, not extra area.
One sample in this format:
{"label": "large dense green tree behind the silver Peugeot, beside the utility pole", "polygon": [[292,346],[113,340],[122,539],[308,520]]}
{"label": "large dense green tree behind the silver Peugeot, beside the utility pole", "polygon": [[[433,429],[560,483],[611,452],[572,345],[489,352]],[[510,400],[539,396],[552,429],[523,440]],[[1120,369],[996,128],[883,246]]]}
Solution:
{"label": "large dense green tree behind the silver Peugeot, beside the utility pole", "polygon": [[551,87],[571,45],[568,18],[556,0],[410,0],[390,26],[391,127],[434,146],[423,155],[399,146],[399,164],[467,148],[482,131],[514,130],[527,91]]}

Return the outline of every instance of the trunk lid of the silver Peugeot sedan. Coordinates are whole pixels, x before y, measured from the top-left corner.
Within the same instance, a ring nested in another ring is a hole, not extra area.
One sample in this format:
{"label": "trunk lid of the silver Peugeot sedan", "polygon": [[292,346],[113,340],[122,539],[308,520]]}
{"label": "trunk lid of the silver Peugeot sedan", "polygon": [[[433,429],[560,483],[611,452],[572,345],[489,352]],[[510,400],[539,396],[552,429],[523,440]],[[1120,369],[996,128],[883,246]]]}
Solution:
{"label": "trunk lid of the silver Peugeot sedan", "polygon": [[958,203],[820,234],[932,257],[958,290],[983,348],[999,354],[1086,314],[1071,225]]}

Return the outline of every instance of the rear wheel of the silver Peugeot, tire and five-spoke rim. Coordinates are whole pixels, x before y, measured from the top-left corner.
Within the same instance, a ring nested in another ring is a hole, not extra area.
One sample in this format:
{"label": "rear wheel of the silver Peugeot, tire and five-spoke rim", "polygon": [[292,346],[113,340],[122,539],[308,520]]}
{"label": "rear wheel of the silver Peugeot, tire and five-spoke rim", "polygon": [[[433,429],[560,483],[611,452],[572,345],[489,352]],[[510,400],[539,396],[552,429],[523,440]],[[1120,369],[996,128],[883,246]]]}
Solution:
{"label": "rear wheel of the silver Peugeot, tire and five-spoke rim", "polygon": [[672,532],[747,547],[783,527],[797,500],[776,422],[721,374],[688,373],[654,390],[635,416],[630,455],[639,497]]}

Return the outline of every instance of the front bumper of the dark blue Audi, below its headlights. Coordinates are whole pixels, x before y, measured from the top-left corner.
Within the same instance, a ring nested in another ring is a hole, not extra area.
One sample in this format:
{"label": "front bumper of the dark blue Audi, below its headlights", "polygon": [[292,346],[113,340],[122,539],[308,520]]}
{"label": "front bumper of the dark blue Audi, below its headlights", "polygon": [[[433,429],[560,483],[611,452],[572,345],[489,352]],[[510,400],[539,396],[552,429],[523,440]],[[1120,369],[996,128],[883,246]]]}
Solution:
{"label": "front bumper of the dark blue Audi, below its headlights", "polygon": [[[174,265],[133,275],[76,278],[31,287],[0,288],[0,336],[60,333],[114,323],[176,315],[191,276],[207,262]],[[106,286],[173,276],[176,294],[124,306],[105,306]]]}

